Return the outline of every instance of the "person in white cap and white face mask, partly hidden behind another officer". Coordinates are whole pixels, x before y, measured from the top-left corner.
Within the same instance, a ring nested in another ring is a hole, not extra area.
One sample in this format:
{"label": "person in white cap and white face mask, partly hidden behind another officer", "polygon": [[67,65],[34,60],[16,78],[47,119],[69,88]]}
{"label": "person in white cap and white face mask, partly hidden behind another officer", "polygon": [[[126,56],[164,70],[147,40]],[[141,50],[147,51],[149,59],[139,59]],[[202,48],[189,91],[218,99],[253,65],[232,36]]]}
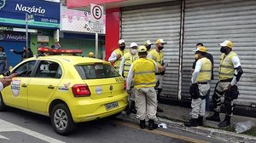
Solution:
{"label": "person in white cap and white face mask, partly hidden behind another officer", "polygon": [[[131,43],[130,48],[131,48],[130,51],[127,52],[122,58],[119,66],[119,74],[123,75],[125,79],[128,77],[128,72],[132,62],[138,59],[137,43]],[[137,111],[135,109],[135,94],[134,94],[135,90],[132,84],[131,84],[131,89],[128,90],[127,92],[129,94],[129,100],[131,101],[131,105],[128,107],[126,114],[131,114],[131,112],[136,114]]]}

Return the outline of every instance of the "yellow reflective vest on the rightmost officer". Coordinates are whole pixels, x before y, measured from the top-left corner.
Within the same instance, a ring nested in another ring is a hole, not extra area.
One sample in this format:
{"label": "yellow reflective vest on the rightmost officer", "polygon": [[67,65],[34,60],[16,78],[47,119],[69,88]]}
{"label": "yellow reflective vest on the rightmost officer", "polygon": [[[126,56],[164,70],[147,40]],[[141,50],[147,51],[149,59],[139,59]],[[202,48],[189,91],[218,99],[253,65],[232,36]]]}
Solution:
{"label": "yellow reflective vest on the rightmost officer", "polygon": [[235,68],[232,63],[232,58],[237,56],[237,54],[233,51],[230,54],[225,55],[221,54],[220,56],[220,65],[218,68],[218,78],[219,80],[231,79],[234,77]]}

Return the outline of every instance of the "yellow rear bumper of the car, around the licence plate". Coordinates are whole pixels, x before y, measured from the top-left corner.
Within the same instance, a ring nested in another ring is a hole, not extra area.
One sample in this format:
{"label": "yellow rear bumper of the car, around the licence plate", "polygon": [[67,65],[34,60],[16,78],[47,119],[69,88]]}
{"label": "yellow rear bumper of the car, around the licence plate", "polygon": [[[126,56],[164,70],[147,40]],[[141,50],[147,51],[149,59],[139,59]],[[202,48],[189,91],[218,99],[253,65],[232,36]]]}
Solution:
{"label": "yellow rear bumper of the car, around the licence plate", "polygon": [[[118,102],[117,107],[107,110],[106,104]],[[113,114],[122,112],[128,105],[127,95],[91,100],[90,97],[84,100],[75,100],[69,106],[70,112],[75,123],[91,121],[102,117],[108,117]]]}

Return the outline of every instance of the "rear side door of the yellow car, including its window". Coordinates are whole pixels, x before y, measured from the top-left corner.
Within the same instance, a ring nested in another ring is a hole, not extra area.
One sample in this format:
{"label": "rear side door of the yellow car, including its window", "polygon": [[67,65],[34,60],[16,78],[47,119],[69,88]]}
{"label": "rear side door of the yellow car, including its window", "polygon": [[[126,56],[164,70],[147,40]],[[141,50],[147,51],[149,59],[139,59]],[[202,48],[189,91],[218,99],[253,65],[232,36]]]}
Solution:
{"label": "rear side door of the yellow car, including its window", "polygon": [[28,107],[36,112],[47,112],[47,104],[61,82],[61,66],[53,61],[41,60],[28,86]]}

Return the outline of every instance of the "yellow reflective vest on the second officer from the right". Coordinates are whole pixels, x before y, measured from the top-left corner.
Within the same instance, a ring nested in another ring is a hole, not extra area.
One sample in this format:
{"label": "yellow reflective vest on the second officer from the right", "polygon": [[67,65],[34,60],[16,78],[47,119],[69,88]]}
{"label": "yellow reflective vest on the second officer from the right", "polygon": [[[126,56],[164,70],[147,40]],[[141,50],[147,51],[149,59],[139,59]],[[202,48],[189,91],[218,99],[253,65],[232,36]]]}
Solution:
{"label": "yellow reflective vest on the second officer from the right", "polygon": [[202,61],[201,70],[198,77],[196,78],[196,83],[210,82],[212,77],[212,62],[206,57],[200,59]]}

